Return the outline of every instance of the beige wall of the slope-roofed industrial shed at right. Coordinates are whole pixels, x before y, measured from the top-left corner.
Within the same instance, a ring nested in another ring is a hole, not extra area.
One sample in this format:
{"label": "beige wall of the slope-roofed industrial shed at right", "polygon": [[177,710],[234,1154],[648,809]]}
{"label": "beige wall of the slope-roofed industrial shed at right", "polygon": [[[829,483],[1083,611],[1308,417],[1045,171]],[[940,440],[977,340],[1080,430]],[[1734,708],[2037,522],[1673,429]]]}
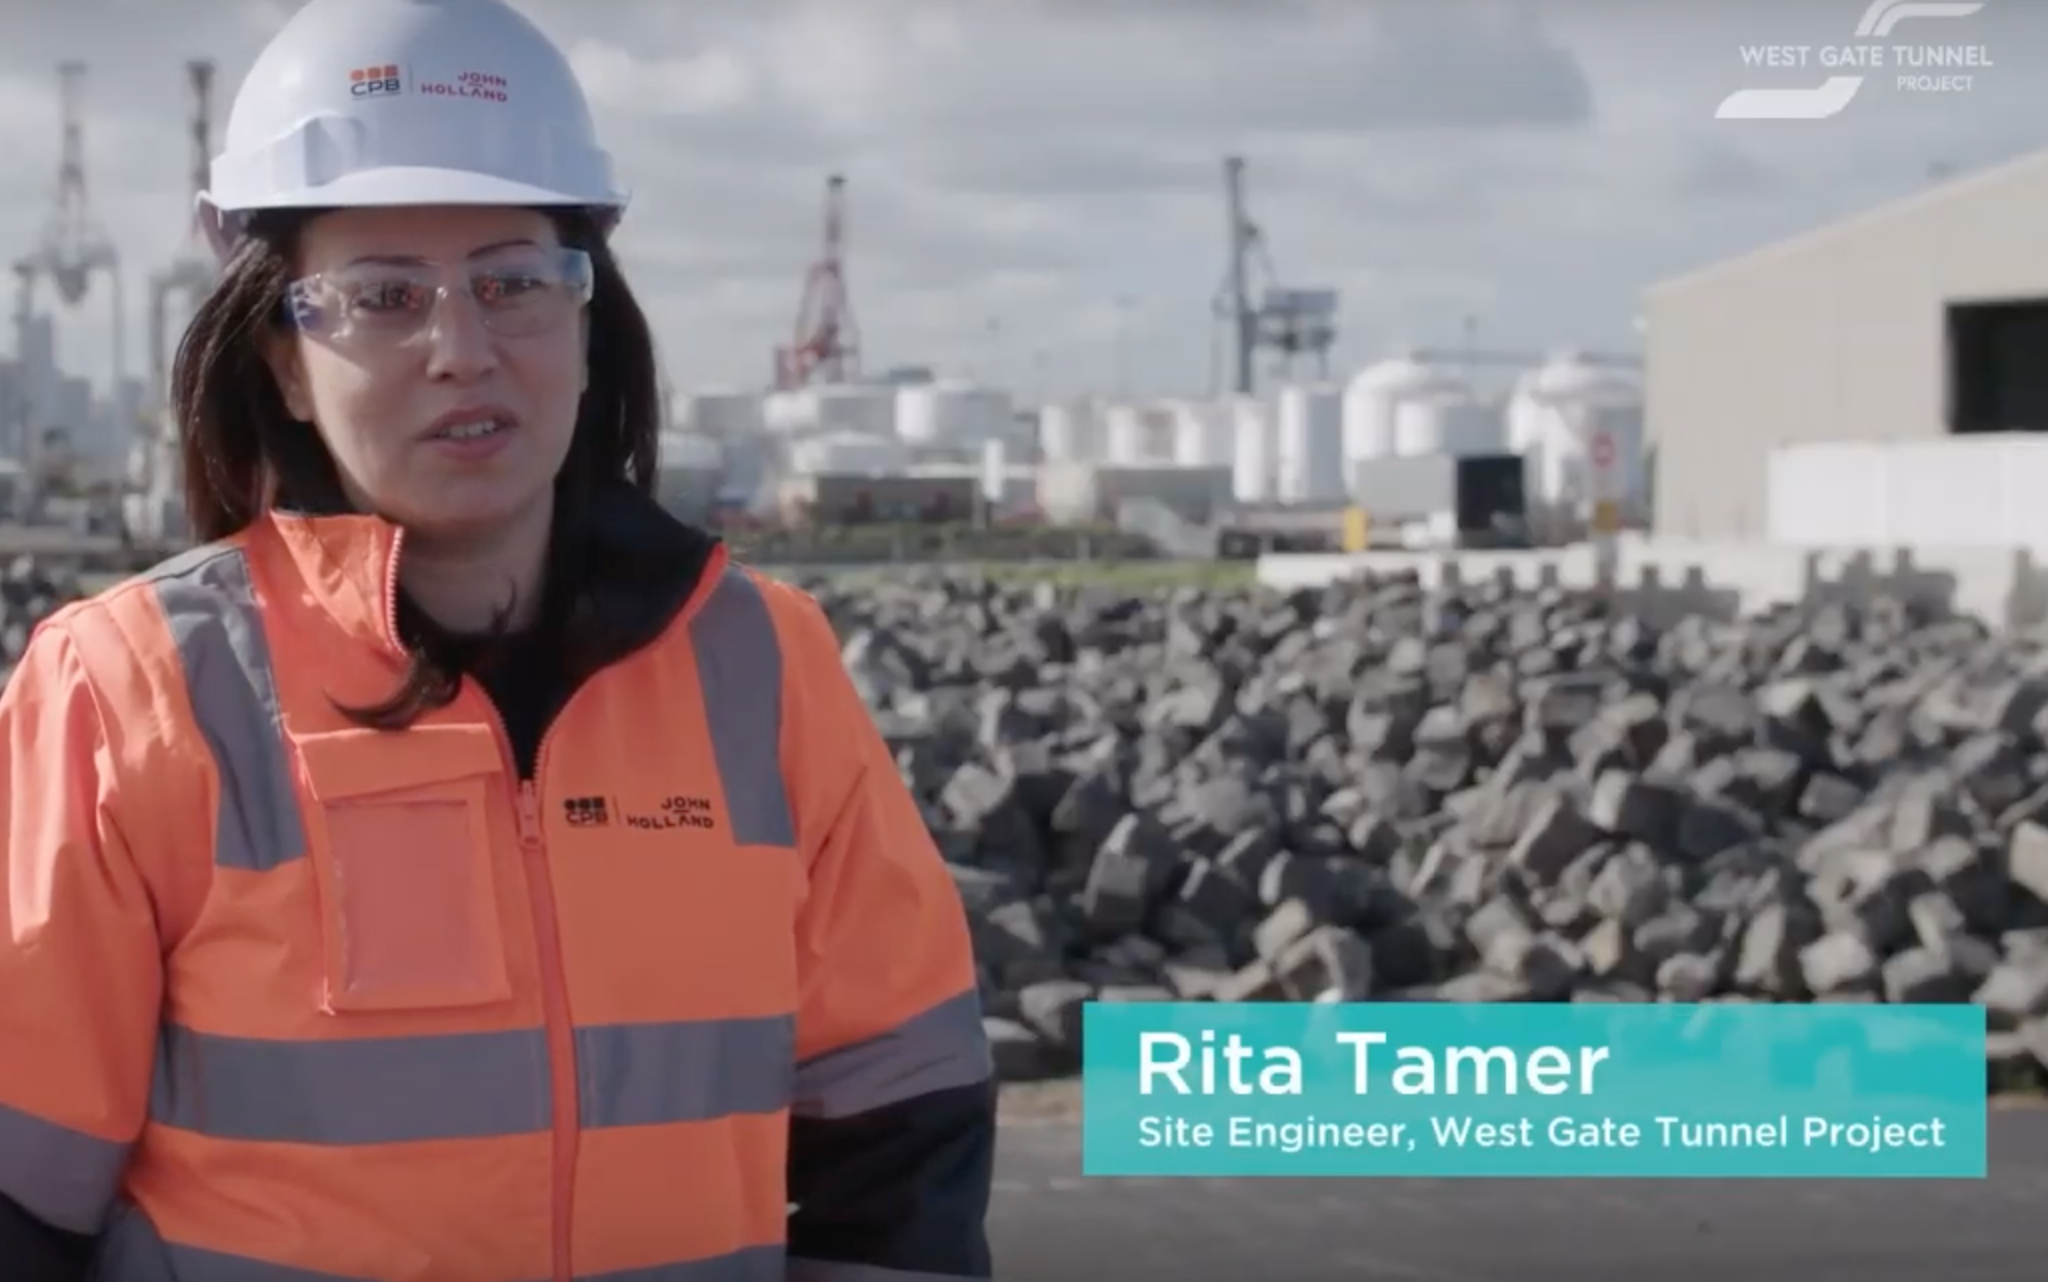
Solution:
{"label": "beige wall of the slope-roofed industrial shed at right", "polygon": [[2048,430],[2048,152],[1657,285],[1655,528],[1763,541],[1772,453]]}

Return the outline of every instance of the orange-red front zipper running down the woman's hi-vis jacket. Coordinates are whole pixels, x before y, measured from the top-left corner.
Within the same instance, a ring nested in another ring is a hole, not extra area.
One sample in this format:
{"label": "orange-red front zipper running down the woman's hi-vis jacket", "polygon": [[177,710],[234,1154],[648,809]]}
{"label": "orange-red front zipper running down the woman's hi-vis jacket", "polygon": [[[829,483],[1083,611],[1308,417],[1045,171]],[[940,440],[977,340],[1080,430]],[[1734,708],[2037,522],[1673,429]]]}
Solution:
{"label": "orange-red front zipper running down the woman's hi-vis jacket", "polygon": [[[498,729],[498,747],[506,758],[506,774],[516,780],[518,846],[526,868],[526,905],[532,913],[535,952],[541,969],[541,1020],[547,1028],[547,1065],[551,1094],[553,1130],[553,1190],[549,1198],[549,1221],[553,1241],[551,1282],[573,1282],[575,1262],[571,1235],[575,1229],[575,1157],[582,1141],[582,1116],[578,1112],[575,1089],[575,1030],[569,1024],[569,975],[561,956],[561,920],[555,913],[555,883],[547,864],[547,825],[541,817],[541,778],[547,768],[547,747],[555,737],[555,725],[569,711],[563,704],[555,719],[541,733],[539,752],[532,760],[532,778],[518,772],[512,756],[512,735],[506,731],[504,713],[479,690]],[[569,696],[573,702],[575,696]]]}

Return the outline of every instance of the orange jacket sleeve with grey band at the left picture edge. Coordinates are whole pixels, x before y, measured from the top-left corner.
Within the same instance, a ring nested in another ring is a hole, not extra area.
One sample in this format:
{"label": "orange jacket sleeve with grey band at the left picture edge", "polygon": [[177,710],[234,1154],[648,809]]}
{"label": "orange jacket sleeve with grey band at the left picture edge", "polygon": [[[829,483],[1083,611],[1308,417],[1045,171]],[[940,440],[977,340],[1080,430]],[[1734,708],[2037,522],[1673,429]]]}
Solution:
{"label": "orange jacket sleeve with grey band at the left picture edge", "polygon": [[0,692],[0,1198],[74,1235],[100,1231],[141,1130],[162,999],[115,756],[76,645],[45,623]]}

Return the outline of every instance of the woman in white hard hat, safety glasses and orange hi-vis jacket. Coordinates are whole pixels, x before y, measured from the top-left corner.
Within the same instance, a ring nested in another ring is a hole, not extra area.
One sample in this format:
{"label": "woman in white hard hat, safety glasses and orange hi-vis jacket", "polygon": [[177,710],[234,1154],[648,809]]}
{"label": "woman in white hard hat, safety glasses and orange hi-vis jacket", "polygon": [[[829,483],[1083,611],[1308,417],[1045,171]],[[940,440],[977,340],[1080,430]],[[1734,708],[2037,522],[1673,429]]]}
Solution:
{"label": "woman in white hard hat, safety glasses and orange hi-vis jacket", "polygon": [[961,901],[821,610],[649,500],[563,55],[313,0],[211,186],[203,547],[0,702],[0,1274],[987,1276]]}

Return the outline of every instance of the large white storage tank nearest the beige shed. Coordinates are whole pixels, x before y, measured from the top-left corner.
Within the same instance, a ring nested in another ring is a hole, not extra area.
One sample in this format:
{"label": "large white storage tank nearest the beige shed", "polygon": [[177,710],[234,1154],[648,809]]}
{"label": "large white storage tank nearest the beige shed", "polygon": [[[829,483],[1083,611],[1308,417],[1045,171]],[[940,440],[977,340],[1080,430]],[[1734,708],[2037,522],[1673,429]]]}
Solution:
{"label": "large white storage tank nearest the beige shed", "polygon": [[1595,498],[1595,438],[1614,451],[1614,494],[1624,510],[1645,500],[1642,381],[1634,371],[1595,365],[1579,352],[1559,352],[1516,385],[1507,412],[1509,438],[1528,461],[1534,508],[1583,510]]}

